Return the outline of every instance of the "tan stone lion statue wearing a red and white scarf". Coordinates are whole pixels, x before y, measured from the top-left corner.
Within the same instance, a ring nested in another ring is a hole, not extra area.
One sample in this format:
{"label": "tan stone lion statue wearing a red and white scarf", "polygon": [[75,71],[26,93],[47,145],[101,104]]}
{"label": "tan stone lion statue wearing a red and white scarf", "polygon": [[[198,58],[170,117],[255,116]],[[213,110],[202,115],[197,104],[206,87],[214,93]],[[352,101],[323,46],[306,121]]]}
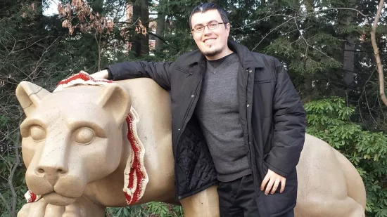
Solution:
{"label": "tan stone lion statue wearing a red and white scarf", "polygon": [[[108,206],[156,201],[219,216],[216,186],[174,199],[170,98],[153,80],[80,73],[53,93],[22,81],[16,96],[29,189],[18,217],[102,217]],[[362,178],[334,148],[306,135],[297,169],[296,216],[364,216]]]}

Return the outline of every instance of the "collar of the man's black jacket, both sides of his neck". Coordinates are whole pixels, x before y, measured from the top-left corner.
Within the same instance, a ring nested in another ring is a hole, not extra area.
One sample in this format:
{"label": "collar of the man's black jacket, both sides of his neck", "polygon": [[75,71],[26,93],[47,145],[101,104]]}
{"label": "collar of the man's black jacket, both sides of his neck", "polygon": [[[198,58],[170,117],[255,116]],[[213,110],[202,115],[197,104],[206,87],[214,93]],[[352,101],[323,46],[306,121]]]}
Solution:
{"label": "collar of the man's black jacket, both sides of his neck", "polygon": [[[243,69],[263,67],[263,64],[254,57],[253,52],[249,51],[246,46],[232,40],[227,41],[227,45],[231,51],[234,51],[239,56]],[[193,65],[203,61],[205,61],[205,56],[199,50],[192,51],[189,58],[184,60],[186,65]]]}

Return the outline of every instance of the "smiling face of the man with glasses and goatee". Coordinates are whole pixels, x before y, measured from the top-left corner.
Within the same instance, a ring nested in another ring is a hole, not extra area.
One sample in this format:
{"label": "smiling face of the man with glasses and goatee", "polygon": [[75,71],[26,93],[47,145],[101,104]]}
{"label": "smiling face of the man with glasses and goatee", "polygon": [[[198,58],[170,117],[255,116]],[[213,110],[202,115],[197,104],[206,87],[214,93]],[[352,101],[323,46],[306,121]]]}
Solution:
{"label": "smiling face of the man with glasses and goatee", "polygon": [[[191,17],[191,26],[194,29],[198,25],[210,25],[211,22],[223,22],[217,10],[194,13]],[[229,37],[229,23],[227,27],[220,24],[216,29],[204,27],[203,32],[192,32],[192,36],[203,55],[209,59],[218,59],[227,55],[227,39]]]}

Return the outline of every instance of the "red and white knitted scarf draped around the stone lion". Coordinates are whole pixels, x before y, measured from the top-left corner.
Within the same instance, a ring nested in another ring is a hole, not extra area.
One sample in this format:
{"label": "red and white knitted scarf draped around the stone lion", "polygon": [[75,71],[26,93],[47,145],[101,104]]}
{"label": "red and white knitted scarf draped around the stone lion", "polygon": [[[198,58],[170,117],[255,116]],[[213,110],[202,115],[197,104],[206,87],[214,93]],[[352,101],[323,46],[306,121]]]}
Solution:
{"label": "red and white knitted scarf draped around the stone lion", "polygon": [[[94,79],[87,72],[81,71],[71,77],[64,79],[58,83],[54,90],[61,91],[64,88],[78,85],[94,85],[106,86],[113,81],[107,79]],[[139,122],[139,115],[133,107],[126,118],[127,121],[127,139],[129,140],[132,152],[130,152],[127,159],[127,166],[124,172],[125,185],[123,192],[127,200],[127,204],[134,204],[144,195],[146,185],[148,184],[148,174],[144,166],[145,148],[142,145],[139,136],[137,135],[137,123]],[[42,198],[40,195],[35,195],[30,190],[25,193],[27,203],[37,202]]]}

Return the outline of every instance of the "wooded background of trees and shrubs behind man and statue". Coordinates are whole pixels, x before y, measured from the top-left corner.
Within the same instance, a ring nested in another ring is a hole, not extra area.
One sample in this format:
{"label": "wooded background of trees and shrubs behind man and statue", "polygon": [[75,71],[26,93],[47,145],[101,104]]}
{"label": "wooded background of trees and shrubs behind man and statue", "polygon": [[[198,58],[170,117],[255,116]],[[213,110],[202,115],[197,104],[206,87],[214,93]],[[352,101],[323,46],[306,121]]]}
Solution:
{"label": "wooded background of trees and shrubs behind man and statue", "polygon": [[[387,217],[387,107],[374,47],[386,65],[386,4],[374,0],[214,0],[229,13],[231,38],[286,66],[307,110],[307,132],[345,154],[367,188],[367,216]],[[25,166],[15,88],[52,91],[72,73],[126,60],[175,60],[196,49],[189,14],[197,0],[0,0],[0,217],[25,204]],[[384,72],[381,74],[381,72]],[[153,202],[106,216],[184,216]]]}

